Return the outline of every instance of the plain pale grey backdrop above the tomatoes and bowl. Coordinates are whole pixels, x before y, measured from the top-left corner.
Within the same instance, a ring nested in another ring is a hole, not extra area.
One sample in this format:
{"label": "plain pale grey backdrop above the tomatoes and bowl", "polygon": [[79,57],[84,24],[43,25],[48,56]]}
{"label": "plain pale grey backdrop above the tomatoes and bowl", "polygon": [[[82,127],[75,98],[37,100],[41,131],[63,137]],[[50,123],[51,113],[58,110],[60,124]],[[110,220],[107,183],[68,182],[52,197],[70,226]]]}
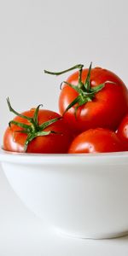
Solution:
{"label": "plain pale grey backdrop above the tomatoes and bowl", "polygon": [[[61,81],[43,73],[75,64],[102,66],[128,83],[127,0],[5,0],[0,3],[0,140],[17,111],[57,110]],[[49,93],[50,91],[50,93]]]}

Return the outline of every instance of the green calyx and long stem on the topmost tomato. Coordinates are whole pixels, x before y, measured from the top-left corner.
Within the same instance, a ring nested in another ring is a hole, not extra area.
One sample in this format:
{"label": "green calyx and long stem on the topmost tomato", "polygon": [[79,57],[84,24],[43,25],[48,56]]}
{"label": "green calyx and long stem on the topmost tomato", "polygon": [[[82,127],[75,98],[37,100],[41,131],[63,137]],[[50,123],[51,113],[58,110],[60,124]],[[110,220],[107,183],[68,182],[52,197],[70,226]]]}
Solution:
{"label": "green calyx and long stem on the topmost tomato", "polygon": [[77,113],[78,108],[80,106],[83,106],[87,102],[92,102],[92,100],[95,98],[96,93],[98,91],[102,90],[102,88],[105,86],[105,84],[108,83],[108,81],[107,81],[107,82],[105,82],[103,84],[97,85],[94,88],[90,87],[91,66],[92,66],[92,62],[90,63],[89,71],[87,73],[87,77],[86,77],[84,83],[82,82],[82,72],[83,72],[83,67],[84,67],[83,64],[79,64],[79,65],[73,66],[73,67],[68,68],[67,70],[64,70],[64,71],[59,72],[59,73],[53,73],[53,72],[49,72],[47,70],[44,70],[44,73],[48,73],[48,74],[51,74],[51,75],[61,75],[62,73],[67,73],[69,71],[72,71],[73,69],[79,68],[79,80],[78,80],[78,84],[77,85],[69,84],[67,81],[63,81],[61,83],[61,86],[62,86],[62,84],[67,84],[68,86],[72,87],[73,90],[76,90],[78,92],[78,96],[73,100],[73,102],[71,102],[67,106],[67,108],[66,108],[65,112],[63,113],[63,115],[70,108],[72,108],[74,105],[77,104],[76,107],[74,108],[75,109],[74,114],[75,114],[75,117],[76,117],[76,113]]}

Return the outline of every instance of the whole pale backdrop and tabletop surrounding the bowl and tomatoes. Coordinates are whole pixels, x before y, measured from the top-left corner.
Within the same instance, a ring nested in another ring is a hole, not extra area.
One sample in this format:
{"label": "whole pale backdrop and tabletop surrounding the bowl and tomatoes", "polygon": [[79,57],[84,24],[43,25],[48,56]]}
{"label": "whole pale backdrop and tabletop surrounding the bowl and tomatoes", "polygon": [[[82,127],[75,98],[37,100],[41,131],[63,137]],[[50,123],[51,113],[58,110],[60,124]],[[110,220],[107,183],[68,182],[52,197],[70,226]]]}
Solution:
{"label": "whole pale backdrop and tabletop surrounding the bowl and tomatoes", "polygon": [[[82,63],[102,66],[128,82],[128,2],[0,1],[0,142],[15,109],[58,110],[60,71]],[[0,255],[128,255],[128,237],[111,241],[81,241],[50,234],[27,211],[0,170]]]}

